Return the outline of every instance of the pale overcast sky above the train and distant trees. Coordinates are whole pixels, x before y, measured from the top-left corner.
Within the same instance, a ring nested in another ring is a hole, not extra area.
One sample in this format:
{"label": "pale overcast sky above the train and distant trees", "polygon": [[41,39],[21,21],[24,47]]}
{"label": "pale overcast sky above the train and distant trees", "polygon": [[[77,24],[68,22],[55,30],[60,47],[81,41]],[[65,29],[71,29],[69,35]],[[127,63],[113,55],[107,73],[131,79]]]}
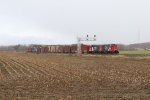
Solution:
{"label": "pale overcast sky above the train and distant trees", "polygon": [[150,42],[150,1],[0,0],[0,45],[76,43],[86,34],[97,35],[90,43]]}

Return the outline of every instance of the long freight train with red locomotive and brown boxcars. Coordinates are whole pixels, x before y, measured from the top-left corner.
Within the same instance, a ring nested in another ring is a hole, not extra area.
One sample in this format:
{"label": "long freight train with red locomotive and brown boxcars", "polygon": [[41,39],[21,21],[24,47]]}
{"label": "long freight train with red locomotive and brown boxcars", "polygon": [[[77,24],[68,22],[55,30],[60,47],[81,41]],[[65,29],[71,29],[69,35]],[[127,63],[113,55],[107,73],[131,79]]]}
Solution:
{"label": "long freight train with red locomotive and brown boxcars", "polygon": [[[77,53],[77,44],[73,45],[33,45],[27,52],[32,53]],[[85,45],[81,44],[82,54],[119,54],[116,44]]]}

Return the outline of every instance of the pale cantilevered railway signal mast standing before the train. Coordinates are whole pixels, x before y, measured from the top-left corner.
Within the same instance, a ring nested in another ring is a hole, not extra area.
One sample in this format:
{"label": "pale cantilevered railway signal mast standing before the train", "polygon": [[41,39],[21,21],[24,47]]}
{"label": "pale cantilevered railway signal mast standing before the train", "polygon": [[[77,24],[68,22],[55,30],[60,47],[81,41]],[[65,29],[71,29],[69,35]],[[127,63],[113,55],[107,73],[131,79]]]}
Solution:
{"label": "pale cantilevered railway signal mast standing before the train", "polygon": [[81,54],[81,41],[96,41],[96,35],[94,35],[93,37],[89,37],[89,35],[87,34],[86,38],[77,37],[77,50],[79,55]]}

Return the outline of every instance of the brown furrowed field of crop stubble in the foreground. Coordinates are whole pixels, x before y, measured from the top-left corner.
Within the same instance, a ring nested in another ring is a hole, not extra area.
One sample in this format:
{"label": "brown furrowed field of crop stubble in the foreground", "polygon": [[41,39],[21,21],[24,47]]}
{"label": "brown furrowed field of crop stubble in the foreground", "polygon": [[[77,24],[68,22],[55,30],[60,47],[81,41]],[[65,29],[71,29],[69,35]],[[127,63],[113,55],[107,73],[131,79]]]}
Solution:
{"label": "brown furrowed field of crop stubble in the foreground", "polygon": [[0,52],[0,100],[149,98],[149,57]]}

